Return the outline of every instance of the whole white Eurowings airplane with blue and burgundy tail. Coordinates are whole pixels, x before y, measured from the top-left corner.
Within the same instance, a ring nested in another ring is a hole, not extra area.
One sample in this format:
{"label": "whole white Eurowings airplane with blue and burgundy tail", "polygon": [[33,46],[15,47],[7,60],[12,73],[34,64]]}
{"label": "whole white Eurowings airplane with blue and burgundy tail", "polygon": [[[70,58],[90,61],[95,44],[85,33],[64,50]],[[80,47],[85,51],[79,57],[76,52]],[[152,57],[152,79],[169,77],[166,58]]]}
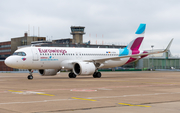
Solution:
{"label": "whole white Eurowings airplane with blue and burgundy tail", "polygon": [[79,75],[93,75],[101,78],[100,68],[122,66],[142,59],[150,54],[167,52],[147,52],[139,48],[144,39],[146,24],[140,24],[135,32],[136,38],[123,49],[115,48],[72,48],[72,47],[24,47],[16,50],[5,59],[5,64],[11,68],[28,69],[28,79],[33,79],[33,70],[38,70],[42,76],[54,76],[60,70],[69,70],[69,78]]}

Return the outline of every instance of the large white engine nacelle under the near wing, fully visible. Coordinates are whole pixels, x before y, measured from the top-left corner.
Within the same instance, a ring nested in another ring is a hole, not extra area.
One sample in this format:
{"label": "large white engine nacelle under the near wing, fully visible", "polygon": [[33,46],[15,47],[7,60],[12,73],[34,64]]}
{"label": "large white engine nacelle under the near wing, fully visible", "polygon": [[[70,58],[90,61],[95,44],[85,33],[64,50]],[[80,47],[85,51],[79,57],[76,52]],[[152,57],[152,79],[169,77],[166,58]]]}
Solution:
{"label": "large white engine nacelle under the near wing, fully visible", "polygon": [[77,62],[73,66],[73,72],[76,75],[92,75],[96,70],[92,62]]}

